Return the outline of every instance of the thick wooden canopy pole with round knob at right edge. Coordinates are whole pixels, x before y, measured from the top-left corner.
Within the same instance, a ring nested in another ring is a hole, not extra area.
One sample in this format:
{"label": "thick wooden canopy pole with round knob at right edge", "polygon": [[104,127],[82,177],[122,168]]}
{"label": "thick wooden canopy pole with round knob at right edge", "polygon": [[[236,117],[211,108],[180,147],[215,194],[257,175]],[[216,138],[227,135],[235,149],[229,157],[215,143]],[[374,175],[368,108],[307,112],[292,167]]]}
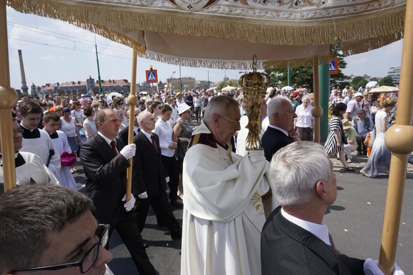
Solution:
{"label": "thick wooden canopy pole with round knob at right edge", "polygon": [[413,1],[406,2],[396,124],[387,130],[384,138],[386,146],[392,151],[379,257],[379,267],[385,275],[393,274],[407,154],[413,151]]}

